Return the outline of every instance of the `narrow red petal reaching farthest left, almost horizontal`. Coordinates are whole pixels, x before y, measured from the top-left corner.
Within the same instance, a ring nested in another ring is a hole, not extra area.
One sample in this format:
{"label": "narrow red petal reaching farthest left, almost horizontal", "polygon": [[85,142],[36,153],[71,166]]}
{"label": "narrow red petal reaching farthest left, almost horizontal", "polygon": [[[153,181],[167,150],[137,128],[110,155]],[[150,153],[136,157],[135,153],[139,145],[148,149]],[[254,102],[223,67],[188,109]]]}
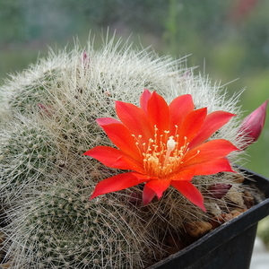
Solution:
{"label": "narrow red petal reaching farthest left, almost horizontal", "polygon": [[111,148],[108,146],[97,146],[83,155],[91,156],[92,158],[100,161],[104,165],[115,169],[130,169],[139,173],[143,173],[143,165],[134,161],[125,152]]}

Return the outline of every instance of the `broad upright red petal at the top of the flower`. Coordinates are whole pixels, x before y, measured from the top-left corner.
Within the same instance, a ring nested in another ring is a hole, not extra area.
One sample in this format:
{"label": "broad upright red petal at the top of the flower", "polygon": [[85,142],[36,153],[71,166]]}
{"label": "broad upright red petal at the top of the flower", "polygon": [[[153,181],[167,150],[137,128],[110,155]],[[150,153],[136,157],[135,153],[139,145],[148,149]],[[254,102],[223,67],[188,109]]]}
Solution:
{"label": "broad upright red petal at the top of the flower", "polygon": [[169,130],[169,107],[166,100],[156,91],[152,92],[148,100],[147,113],[152,126],[156,126],[159,132]]}

